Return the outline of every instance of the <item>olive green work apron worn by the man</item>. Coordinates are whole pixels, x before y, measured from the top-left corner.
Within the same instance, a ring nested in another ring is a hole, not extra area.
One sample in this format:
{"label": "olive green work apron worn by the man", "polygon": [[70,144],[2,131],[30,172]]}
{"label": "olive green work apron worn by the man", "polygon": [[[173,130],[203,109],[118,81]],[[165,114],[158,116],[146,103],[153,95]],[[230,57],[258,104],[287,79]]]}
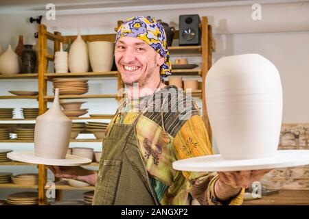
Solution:
{"label": "olive green work apron worn by the man", "polygon": [[136,124],[117,124],[103,141],[93,205],[159,205],[139,151]]}

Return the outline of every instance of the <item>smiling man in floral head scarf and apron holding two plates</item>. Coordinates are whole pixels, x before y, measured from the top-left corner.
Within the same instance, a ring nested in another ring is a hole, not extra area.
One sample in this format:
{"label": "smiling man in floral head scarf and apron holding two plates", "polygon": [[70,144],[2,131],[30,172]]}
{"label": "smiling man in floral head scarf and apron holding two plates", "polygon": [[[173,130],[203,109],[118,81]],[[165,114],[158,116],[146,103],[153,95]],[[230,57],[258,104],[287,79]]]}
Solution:
{"label": "smiling man in floral head scarf and apron holding two plates", "polygon": [[240,205],[244,188],[268,170],[172,168],[178,159],[212,155],[213,149],[194,100],[162,82],[171,64],[161,24],[140,16],[124,22],[115,62],[128,95],[106,129],[99,171],[49,167],[55,176],[95,185],[93,205],[190,205],[193,198],[201,205]]}

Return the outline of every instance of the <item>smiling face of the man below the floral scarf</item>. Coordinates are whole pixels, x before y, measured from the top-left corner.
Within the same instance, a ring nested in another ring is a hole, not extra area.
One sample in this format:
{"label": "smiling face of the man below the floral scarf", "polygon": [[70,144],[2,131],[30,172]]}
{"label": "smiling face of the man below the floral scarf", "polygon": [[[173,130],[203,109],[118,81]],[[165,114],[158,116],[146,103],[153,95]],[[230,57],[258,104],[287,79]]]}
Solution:
{"label": "smiling face of the man below the floral scarf", "polygon": [[115,62],[125,84],[144,86],[150,76],[159,74],[155,70],[164,58],[143,40],[123,37],[115,45]]}

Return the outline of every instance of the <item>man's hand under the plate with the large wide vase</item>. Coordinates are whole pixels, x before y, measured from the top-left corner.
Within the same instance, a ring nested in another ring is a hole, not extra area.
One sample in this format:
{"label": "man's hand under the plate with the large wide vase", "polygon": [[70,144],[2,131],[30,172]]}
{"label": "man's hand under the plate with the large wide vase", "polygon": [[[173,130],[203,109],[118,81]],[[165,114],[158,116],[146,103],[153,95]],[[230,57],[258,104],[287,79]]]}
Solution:
{"label": "man's hand under the plate with the large wide vase", "polygon": [[226,201],[236,196],[242,188],[249,188],[253,182],[259,181],[270,171],[271,169],[217,172],[219,179],[215,185],[216,196],[220,201]]}

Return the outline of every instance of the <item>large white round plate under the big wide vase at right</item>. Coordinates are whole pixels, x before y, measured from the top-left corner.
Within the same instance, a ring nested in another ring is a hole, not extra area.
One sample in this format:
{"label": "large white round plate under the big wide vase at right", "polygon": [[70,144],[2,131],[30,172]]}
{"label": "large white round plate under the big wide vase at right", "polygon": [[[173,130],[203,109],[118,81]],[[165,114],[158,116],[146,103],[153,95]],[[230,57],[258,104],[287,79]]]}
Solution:
{"label": "large white round plate under the big wide vase at right", "polygon": [[273,157],[260,159],[222,159],[221,155],[210,155],[182,159],[173,162],[175,170],[185,171],[241,171],[286,168],[309,164],[309,150],[277,151]]}

